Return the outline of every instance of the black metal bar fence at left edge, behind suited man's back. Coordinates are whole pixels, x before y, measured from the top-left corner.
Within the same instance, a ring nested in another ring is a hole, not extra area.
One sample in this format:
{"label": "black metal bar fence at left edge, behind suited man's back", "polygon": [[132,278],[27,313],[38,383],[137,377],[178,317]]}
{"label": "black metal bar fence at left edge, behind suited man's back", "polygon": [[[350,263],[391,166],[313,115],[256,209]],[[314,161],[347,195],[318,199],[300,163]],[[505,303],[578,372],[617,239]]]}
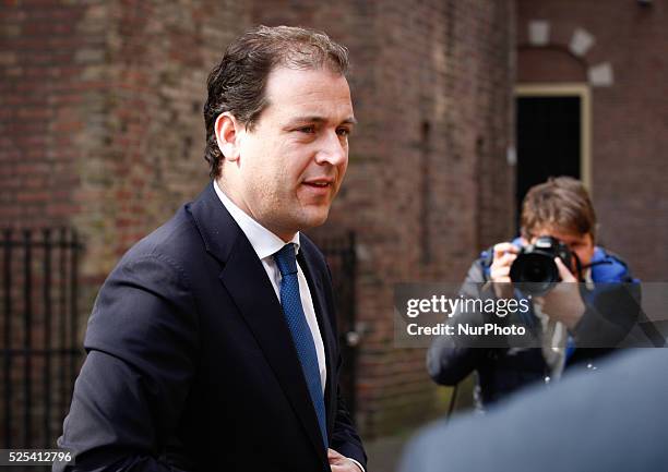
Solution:
{"label": "black metal bar fence at left edge, behind suited man's back", "polygon": [[0,230],[0,447],[53,447],[82,359],[71,229]]}

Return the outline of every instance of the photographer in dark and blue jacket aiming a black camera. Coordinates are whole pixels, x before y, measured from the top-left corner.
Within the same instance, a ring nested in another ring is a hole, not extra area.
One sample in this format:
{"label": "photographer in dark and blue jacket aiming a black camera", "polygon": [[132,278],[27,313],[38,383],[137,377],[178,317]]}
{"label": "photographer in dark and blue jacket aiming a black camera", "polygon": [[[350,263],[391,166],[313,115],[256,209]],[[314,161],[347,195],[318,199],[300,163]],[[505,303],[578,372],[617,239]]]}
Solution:
{"label": "photographer in dark and blue jacket aiming a black camera", "polygon": [[[521,227],[521,238],[496,244],[474,262],[461,294],[482,300],[529,299],[532,311],[524,323],[533,329],[534,347],[442,336],[427,353],[429,375],[438,384],[454,386],[477,372],[478,408],[527,384],[557,379],[576,363],[595,370],[594,358],[618,346],[640,313],[640,288],[625,263],[595,245],[596,216],[580,181],[561,177],[532,187],[523,202]],[[518,280],[512,280],[511,273],[527,271],[527,264],[513,267],[513,263],[541,246],[547,247],[548,256],[542,256],[547,268],[562,283],[532,296],[518,290],[518,283],[513,283]],[[455,313],[451,323],[480,324],[490,317],[493,314]],[[496,322],[510,323],[501,317]]]}

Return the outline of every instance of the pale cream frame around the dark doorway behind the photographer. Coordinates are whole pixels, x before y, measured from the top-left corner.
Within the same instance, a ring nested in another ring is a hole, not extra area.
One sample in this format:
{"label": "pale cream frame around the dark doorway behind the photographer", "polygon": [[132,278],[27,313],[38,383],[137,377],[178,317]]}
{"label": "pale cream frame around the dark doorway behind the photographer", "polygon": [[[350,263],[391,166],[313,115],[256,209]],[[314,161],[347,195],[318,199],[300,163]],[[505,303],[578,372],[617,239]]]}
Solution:
{"label": "pale cream frame around the dark doorway behind the photographer", "polygon": [[580,178],[592,195],[592,90],[586,83],[525,83],[515,85],[517,97],[580,97]]}

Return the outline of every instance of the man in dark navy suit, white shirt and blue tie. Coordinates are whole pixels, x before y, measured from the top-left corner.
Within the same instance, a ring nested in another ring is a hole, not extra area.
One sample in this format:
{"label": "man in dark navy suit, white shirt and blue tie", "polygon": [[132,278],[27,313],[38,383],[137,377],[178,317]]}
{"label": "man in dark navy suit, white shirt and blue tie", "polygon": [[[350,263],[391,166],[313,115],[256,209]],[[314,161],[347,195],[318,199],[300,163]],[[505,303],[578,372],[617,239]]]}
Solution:
{"label": "man in dark navy suit, white shirt and blue tie", "polygon": [[329,269],[299,232],[325,221],[346,171],[346,68],[302,28],[228,47],[204,107],[213,182],[103,286],[65,470],[363,471]]}

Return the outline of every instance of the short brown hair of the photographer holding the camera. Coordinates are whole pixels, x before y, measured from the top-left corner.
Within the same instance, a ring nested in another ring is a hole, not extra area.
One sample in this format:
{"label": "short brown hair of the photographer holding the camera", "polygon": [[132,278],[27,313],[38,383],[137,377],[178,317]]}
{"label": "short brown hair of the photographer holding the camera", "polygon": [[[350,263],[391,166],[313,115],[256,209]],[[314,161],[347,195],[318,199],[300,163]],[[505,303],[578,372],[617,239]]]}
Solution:
{"label": "short brown hair of the photographer holding the camera", "polygon": [[596,213],[589,193],[571,177],[550,178],[529,189],[522,204],[522,235],[551,228],[573,234],[592,234],[596,240]]}

